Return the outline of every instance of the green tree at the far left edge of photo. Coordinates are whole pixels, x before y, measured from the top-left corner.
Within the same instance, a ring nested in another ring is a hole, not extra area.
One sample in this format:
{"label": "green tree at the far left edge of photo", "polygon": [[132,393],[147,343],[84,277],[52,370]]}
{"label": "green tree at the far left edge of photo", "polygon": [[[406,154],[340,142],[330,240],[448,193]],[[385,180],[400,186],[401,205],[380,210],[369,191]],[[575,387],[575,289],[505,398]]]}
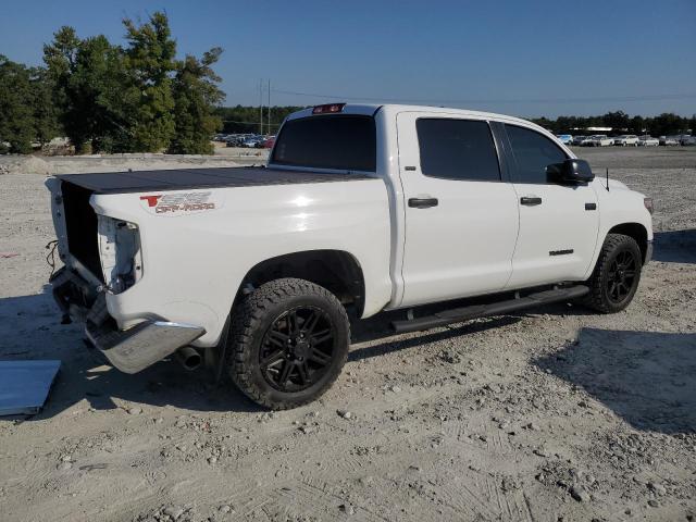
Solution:
{"label": "green tree at the far left edge of photo", "polygon": [[10,152],[32,152],[33,97],[29,70],[0,54],[0,142],[8,141]]}

